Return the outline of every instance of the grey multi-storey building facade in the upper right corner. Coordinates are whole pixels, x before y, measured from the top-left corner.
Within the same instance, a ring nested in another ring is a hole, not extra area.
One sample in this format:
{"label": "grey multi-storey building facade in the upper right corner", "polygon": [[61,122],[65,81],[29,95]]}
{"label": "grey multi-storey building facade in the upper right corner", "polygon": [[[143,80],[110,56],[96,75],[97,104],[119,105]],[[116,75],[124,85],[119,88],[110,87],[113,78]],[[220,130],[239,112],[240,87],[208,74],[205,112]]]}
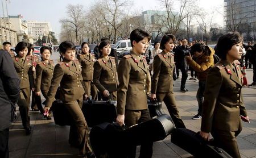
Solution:
{"label": "grey multi-storey building facade in the upper right corner", "polygon": [[256,1],[224,0],[224,31],[238,31],[245,40],[255,40]]}

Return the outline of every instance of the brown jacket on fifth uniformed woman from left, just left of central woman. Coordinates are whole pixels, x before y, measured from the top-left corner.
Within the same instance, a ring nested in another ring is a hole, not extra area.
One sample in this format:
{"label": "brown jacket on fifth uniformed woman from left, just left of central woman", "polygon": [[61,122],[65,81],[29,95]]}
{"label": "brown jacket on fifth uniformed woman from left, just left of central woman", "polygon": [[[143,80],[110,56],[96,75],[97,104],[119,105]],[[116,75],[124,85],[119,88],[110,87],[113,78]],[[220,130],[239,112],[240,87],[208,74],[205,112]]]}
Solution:
{"label": "brown jacket on fifth uniformed woman from left, just left of central woman", "polygon": [[101,57],[94,63],[93,83],[101,93],[104,90],[117,91],[117,66],[114,57],[109,56],[108,60]]}

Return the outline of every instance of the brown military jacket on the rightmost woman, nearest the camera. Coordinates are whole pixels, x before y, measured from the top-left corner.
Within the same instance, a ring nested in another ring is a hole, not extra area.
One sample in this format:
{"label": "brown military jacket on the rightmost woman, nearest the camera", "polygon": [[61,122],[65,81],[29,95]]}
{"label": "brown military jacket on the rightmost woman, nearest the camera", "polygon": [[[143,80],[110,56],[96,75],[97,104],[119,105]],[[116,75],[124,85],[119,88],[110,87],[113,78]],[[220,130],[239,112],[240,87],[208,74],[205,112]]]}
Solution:
{"label": "brown military jacket on the rightmost woman, nearest the camera", "polygon": [[208,73],[201,131],[242,130],[240,115],[247,116],[241,94],[243,74],[239,61],[234,64],[236,72],[232,64],[221,60]]}

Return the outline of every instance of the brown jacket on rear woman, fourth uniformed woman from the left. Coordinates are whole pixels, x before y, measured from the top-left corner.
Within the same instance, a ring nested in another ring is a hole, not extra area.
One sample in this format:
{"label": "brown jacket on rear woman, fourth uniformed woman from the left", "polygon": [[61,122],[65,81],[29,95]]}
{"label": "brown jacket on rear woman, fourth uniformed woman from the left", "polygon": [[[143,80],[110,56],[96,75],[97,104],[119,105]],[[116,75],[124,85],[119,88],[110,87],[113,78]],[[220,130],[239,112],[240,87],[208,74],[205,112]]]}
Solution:
{"label": "brown jacket on rear woman, fourth uniformed woman from the left", "polygon": [[81,54],[77,55],[77,59],[82,66],[82,78],[93,80],[93,64],[96,61],[94,55],[92,53],[89,53],[89,55]]}

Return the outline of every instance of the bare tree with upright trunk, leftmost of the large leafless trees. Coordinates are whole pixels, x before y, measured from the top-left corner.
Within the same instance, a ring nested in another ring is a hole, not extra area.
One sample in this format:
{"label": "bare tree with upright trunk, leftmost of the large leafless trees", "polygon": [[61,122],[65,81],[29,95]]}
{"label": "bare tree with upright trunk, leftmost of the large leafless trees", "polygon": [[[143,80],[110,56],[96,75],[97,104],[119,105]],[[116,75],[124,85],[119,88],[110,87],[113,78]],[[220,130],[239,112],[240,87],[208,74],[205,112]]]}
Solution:
{"label": "bare tree with upright trunk, leftmost of the large leafless trees", "polygon": [[75,43],[79,44],[79,31],[84,27],[84,10],[82,5],[68,5],[67,18],[61,19],[60,23],[70,27],[75,32]]}

